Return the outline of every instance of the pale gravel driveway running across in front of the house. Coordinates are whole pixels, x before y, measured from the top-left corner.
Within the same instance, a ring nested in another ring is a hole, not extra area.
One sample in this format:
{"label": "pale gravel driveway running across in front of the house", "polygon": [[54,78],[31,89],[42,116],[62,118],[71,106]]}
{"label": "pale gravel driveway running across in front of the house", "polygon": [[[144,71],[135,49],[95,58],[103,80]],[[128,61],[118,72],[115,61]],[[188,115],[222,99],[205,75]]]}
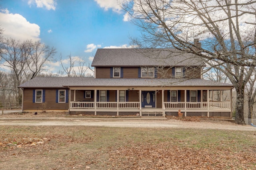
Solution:
{"label": "pale gravel driveway running across in front of the house", "polygon": [[200,121],[188,122],[175,119],[166,120],[109,120],[106,119],[72,119],[72,118],[51,118],[31,120],[8,120],[0,119],[0,125],[15,126],[105,126],[105,127],[126,127],[126,128],[190,128],[190,129],[221,129],[221,130],[242,130],[255,131],[256,127],[251,125],[237,125],[226,121]]}

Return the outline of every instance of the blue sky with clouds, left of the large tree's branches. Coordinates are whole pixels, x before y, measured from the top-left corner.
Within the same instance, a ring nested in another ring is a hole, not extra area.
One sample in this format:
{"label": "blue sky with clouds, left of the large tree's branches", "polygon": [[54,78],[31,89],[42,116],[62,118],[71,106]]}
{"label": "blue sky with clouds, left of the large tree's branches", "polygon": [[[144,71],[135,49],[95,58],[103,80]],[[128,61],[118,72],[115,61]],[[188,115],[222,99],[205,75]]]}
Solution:
{"label": "blue sky with clouds, left of the large tree's branches", "polygon": [[5,38],[54,46],[56,61],[46,67],[53,73],[62,69],[60,54],[91,63],[97,48],[129,46],[140,35],[117,0],[0,0],[0,27]]}

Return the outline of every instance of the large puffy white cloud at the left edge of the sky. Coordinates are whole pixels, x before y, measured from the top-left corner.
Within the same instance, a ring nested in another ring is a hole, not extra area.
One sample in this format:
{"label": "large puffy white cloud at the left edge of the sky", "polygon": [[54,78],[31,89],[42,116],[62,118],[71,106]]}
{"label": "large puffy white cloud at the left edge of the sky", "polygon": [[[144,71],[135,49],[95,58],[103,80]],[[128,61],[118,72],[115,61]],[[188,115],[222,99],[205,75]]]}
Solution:
{"label": "large puffy white cloud at the left edge of the sky", "polygon": [[7,9],[1,10],[0,23],[5,38],[14,38],[21,41],[27,39],[40,40],[40,27],[37,24],[31,24],[20,14],[10,14]]}

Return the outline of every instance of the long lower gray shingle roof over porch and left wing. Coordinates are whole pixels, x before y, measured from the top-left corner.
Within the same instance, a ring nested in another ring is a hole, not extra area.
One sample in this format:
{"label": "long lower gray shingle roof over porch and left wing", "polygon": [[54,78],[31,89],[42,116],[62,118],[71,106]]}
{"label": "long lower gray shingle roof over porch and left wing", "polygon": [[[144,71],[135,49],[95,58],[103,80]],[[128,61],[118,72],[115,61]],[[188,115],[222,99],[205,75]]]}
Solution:
{"label": "long lower gray shingle roof over porch and left wing", "polygon": [[232,84],[214,82],[204,79],[176,79],[176,78],[93,78],[93,77],[36,77],[24,84],[20,88],[62,88],[63,86],[73,87],[232,87]]}

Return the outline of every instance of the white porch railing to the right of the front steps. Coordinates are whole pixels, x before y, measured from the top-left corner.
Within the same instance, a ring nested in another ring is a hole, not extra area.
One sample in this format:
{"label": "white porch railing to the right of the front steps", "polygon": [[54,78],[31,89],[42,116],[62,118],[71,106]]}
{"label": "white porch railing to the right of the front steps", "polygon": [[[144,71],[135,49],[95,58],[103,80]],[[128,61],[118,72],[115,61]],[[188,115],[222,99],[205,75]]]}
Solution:
{"label": "white porch railing to the right of the front steps", "polygon": [[[164,102],[166,109],[208,109],[208,102]],[[209,109],[230,109],[230,102],[209,102]]]}

